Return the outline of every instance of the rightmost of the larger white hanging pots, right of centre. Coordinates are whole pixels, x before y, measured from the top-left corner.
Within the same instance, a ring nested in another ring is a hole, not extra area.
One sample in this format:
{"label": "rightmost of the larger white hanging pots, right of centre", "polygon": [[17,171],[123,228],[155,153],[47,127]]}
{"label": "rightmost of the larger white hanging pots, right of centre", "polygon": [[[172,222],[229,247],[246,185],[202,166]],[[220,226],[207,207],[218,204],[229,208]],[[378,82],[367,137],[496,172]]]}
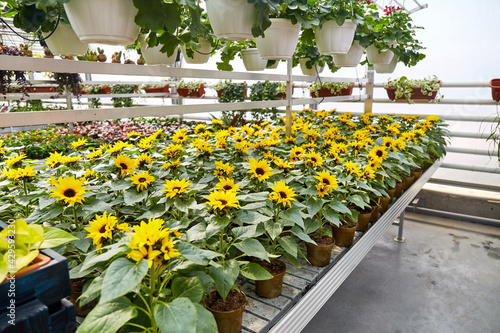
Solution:
{"label": "rightmost of the larger white hanging pots, right of centre", "polygon": [[335,21],[324,22],[321,29],[314,32],[319,53],[346,54],[351,48],[355,31],[356,24],[351,20],[345,20],[342,25],[338,25]]}

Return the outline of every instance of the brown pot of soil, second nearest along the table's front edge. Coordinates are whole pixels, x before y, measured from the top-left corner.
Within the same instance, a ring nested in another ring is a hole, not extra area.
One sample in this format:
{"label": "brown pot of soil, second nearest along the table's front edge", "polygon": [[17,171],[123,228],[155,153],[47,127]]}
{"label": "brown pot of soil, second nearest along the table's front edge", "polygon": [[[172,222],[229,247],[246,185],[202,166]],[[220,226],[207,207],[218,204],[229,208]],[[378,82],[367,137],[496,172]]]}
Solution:
{"label": "brown pot of soil, second nearest along the table's front edge", "polygon": [[257,295],[265,298],[276,298],[281,295],[283,289],[283,277],[286,273],[286,264],[278,259],[271,260],[270,263],[260,259],[252,260],[267,270],[273,276],[269,280],[255,281],[255,291]]}

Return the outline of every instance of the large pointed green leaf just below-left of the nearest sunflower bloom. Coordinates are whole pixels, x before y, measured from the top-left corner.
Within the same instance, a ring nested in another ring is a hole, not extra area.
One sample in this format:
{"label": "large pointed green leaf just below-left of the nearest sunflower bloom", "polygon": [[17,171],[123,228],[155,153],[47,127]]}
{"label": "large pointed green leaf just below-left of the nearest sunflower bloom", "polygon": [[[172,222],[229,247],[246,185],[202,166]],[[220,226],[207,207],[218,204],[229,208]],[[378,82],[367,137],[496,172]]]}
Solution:
{"label": "large pointed green leaf just below-left of the nearest sunflower bloom", "polygon": [[104,276],[101,302],[108,302],[134,290],[148,272],[148,261],[143,259],[133,263],[126,258],[118,258],[109,265]]}

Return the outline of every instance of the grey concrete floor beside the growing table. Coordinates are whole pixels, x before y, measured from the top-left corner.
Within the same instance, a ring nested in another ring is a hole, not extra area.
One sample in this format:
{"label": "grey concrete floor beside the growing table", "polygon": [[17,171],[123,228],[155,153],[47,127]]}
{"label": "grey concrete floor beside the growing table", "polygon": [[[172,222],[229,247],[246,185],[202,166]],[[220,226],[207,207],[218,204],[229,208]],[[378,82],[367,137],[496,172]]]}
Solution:
{"label": "grey concrete floor beside the growing table", "polygon": [[500,228],[406,214],[302,332],[500,332]]}

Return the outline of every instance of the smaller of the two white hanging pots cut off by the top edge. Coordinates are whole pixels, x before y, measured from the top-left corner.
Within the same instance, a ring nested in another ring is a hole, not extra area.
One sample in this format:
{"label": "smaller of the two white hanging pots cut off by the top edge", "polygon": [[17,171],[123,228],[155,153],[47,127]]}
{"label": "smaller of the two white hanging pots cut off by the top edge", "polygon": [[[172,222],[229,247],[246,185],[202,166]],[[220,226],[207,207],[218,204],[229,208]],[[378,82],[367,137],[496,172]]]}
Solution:
{"label": "smaller of the two white hanging pots cut off by the top edge", "polygon": [[220,40],[251,40],[257,9],[247,0],[207,0],[207,14]]}

